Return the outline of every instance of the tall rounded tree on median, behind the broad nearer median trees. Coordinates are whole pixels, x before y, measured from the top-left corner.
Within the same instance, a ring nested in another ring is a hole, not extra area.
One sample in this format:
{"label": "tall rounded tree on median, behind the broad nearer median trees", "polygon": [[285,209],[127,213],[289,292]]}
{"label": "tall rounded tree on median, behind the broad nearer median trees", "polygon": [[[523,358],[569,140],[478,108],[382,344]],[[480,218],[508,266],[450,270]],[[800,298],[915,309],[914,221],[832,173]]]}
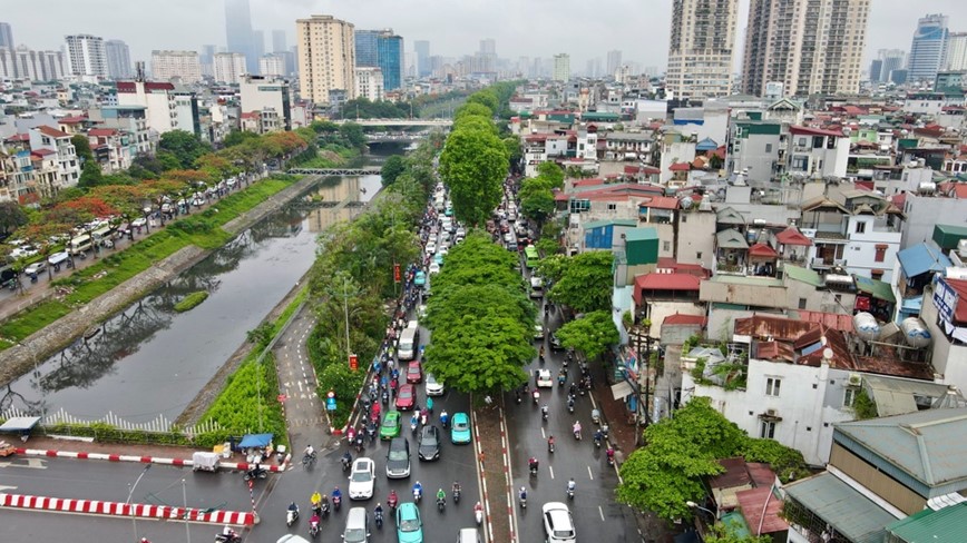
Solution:
{"label": "tall rounded tree on median, behind the broad nearer median trees", "polygon": [[455,130],[440,156],[440,174],[457,220],[482,224],[504,197],[507,150],[492,132]]}

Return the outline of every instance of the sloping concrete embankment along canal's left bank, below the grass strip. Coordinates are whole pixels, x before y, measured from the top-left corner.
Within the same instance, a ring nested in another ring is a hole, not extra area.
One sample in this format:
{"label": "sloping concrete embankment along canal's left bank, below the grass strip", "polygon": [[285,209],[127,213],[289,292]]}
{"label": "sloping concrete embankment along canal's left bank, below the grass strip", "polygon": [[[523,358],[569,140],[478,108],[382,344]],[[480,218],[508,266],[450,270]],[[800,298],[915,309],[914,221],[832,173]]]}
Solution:
{"label": "sloping concrete embankment along canal's left bank, below the grass strip", "polygon": [[[319,180],[318,176],[300,179],[262,204],[226,223],[222,228],[236,236],[252,225],[275,211],[300,192]],[[217,203],[214,204],[217,207]],[[0,386],[31,371],[37,361],[43,361],[53,353],[70,345],[92,326],[106,320],[115,313],[138,300],[152,290],[173,279],[192,267],[212,251],[198,247],[185,247],[177,253],[155,263],[150,268],[121,283],[90,303],[78,307],[70,314],[51,323],[22,342],[21,345],[0,352]]]}

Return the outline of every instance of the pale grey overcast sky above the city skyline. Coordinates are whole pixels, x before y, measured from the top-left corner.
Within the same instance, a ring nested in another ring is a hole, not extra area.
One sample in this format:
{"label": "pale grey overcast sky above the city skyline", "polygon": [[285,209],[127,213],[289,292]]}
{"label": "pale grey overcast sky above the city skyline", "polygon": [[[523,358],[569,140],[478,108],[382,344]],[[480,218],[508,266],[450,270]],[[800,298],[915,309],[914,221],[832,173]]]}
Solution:
{"label": "pale grey overcast sky above the city skyline", "polygon": [[[459,57],[497,41],[501,58],[572,56],[572,70],[588,59],[623,51],[625,61],[664,70],[668,50],[671,0],[250,0],[252,24],[284,29],[294,41],[295,19],[332,14],[358,29],[391,27],[407,40],[429,40],[430,55]],[[740,34],[749,0],[740,0]],[[967,31],[965,0],[872,0],[865,61],[877,49],[909,50],[917,19],[927,12],[950,17],[951,31]],[[120,39],[131,60],[148,60],[153,49],[199,49],[225,45],[224,0],[2,0],[0,21],[14,41],[33,49],[56,49],[69,33]],[[271,42],[270,42],[271,45]],[[266,46],[268,47],[268,46]],[[738,43],[736,55],[742,46]],[[865,66],[867,66],[865,63]]]}

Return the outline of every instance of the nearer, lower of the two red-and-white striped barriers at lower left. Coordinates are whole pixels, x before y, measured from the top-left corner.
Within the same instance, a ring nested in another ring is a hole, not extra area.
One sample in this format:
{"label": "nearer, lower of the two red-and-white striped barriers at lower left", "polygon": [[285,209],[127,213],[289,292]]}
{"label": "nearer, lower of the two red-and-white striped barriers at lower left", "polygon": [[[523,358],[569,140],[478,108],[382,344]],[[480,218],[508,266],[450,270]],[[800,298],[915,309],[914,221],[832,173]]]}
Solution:
{"label": "nearer, lower of the two red-and-white striped barriers at lower left", "polygon": [[126,504],[120,502],[98,502],[94,500],[67,500],[62,497],[30,496],[25,494],[0,493],[0,505],[3,507],[14,509],[133,516],[140,519],[184,521],[187,517],[187,520],[192,522],[206,522],[213,524],[235,524],[246,526],[255,524],[255,513],[252,512],[205,512],[191,507],[172,507],[167,505],[148,505],[141,503]]}

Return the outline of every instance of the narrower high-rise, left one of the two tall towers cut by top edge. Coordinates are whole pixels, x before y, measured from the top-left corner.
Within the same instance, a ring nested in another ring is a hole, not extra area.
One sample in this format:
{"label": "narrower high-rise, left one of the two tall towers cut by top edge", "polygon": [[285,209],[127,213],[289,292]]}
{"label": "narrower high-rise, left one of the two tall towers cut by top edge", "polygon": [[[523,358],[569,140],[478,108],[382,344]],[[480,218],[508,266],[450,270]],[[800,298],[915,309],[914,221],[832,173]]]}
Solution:
{"label": "narrower high-rise, left one of the two tall towers cut by top edge", "polygon": [[674,0],[665,86],[675,98],[732,92],[732,50],[739,0]]}

